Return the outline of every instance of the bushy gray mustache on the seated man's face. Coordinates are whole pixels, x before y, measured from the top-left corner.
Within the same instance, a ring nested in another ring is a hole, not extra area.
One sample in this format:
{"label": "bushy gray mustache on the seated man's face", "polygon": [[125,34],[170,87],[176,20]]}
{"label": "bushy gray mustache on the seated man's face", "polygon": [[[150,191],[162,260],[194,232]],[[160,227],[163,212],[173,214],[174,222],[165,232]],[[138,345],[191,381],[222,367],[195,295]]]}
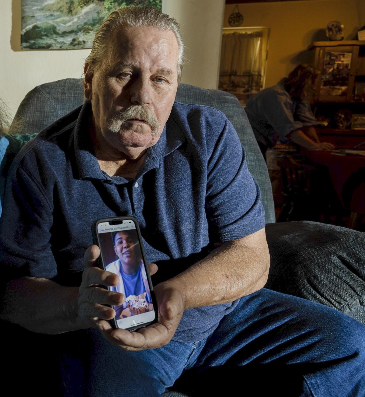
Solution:
{"label": "bushy gray mustache on the seated man's face", "polygon": [[133,105],[119,112],[111,119],[109,123],[109,130],[112,132],[119,132],[122,125],[131,119],[139,119],[145,121],[151,127],[151,134],[157,135],[161,129],[160,123],[152,110],[148,107]]}

